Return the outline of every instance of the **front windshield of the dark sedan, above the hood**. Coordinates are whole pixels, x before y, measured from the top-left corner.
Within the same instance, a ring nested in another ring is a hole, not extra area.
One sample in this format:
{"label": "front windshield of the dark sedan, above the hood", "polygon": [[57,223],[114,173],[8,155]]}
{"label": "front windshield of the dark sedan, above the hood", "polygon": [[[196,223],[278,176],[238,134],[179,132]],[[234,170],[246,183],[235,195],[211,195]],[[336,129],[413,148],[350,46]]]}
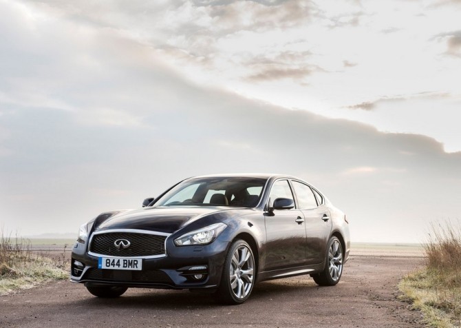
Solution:
{"label": "front windshield of the dark sedan, above the hood", "polygon": [[264,178],[193,178],[164,194],[154,206],[255,207],[266,185]]}

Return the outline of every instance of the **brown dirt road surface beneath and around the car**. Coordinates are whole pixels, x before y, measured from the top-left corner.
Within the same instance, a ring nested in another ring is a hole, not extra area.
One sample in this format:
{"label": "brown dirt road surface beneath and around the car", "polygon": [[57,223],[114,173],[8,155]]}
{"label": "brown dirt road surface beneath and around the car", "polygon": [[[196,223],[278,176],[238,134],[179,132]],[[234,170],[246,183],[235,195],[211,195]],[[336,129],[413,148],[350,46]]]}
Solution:
{"label": "brown dirt road surface beneath and around the car", "polygon": [[422,258],[352,256],[335,287],[300,276],[259,283],[244,305],[190,291],[129,289],[107,300],[67,281],[0,296],[0,327],[422,327],[396,300],[401,276]]}

